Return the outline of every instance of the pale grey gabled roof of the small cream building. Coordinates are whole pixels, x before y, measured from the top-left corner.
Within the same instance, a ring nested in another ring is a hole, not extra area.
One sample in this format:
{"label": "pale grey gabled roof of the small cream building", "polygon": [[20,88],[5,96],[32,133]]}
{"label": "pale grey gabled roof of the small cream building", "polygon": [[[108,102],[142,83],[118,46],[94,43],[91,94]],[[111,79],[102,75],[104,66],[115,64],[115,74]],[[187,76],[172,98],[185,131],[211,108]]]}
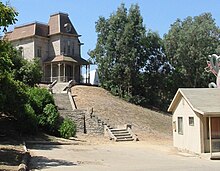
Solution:
{"label": "pale grey gabled roof of the small cream building", "polygon": [[180,88],[168,108],[169,112],[175,111],[182,97],[199,114],[220,115],[219,88]]}

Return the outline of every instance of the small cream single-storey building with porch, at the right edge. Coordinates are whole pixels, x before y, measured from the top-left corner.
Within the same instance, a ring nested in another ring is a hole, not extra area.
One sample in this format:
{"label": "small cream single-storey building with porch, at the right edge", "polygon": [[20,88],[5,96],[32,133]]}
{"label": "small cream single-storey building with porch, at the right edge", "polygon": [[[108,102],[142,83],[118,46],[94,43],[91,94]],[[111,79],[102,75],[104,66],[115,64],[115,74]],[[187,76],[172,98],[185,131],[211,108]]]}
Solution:
{"label": "small cream single-storey building with porch, at the right edge", "polygon": [[168,111],[174,147],[198,154],[220,151],[220,89],[181,88]]}

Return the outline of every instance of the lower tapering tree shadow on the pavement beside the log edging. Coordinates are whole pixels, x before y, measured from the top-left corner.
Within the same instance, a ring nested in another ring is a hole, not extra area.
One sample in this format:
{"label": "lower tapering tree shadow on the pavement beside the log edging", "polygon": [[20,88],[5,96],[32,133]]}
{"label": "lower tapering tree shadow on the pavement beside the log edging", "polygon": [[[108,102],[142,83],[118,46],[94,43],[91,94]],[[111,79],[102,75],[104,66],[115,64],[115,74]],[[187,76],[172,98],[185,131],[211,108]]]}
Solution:
{"label": "lower tapering tree shadow on the pavement beside the log edging", "polygon": [[56,166],[76,166],[77,163],[65,161],[65,160],[56,160],[48,159],[43,156],[33,156],[31,158],[29,168],[31,169],[43,169],[46,167],[56,167]]}

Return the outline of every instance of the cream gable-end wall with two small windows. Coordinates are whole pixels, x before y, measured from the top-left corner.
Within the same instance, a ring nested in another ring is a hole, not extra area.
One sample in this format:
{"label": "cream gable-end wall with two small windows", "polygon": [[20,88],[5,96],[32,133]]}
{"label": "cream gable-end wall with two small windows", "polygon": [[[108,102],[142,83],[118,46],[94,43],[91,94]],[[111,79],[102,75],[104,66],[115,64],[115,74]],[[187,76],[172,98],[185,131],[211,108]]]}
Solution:
{"label": "cream gable-end wall with two small windows", "polygon": [[[178,117],[183,117],[183,135],[178,133]],[[189,117],[194,117],[194,126],[189,125]],[[176,121],[176,132],[173,130],[174,147],[190,152],[201,153],[200,118],[182,98],[173,112]]]}

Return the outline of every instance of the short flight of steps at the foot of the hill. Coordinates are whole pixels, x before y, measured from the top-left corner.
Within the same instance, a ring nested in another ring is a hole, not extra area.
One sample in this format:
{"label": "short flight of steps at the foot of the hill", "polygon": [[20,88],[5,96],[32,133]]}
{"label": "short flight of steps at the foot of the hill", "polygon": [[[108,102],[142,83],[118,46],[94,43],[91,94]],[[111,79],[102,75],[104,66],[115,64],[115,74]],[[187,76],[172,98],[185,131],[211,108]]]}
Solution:
{"label": "short flight of steps at the foot of the hill", "polygon": [[134,141],[131,133],[127,129],[109,128],[116,142]]}

